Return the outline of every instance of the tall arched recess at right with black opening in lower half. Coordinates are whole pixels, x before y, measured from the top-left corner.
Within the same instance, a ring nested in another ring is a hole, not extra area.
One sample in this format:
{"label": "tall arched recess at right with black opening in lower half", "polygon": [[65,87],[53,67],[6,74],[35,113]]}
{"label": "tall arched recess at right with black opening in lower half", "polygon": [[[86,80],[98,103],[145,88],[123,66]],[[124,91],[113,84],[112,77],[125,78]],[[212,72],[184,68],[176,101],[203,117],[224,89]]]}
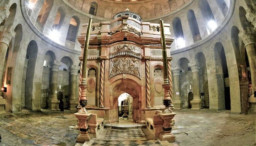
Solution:
{"label": "tall arched recess at right with black opening in lower half", "polygon": [[218,108],[219,110],[231,109],[231,101],[230,101],[230,87],[229,87],[229,74],[228,74],[228,66],[226,63],[226,55],[224,51],[224,47],[222,43],[218,42],[215,44],[214,48],[214,59],[215,59],[215,67],[217,74],[217,86],[219,89],[224,89],[219,92],[218,99]]}

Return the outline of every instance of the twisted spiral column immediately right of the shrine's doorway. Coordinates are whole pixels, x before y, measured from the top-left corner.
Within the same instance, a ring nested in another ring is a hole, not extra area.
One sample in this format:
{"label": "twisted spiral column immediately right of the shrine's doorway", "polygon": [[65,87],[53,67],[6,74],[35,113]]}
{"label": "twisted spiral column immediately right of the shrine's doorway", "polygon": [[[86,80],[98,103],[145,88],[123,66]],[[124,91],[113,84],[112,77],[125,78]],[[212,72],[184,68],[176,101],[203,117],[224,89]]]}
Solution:
{"label": "twisted spiral column immediately right of the shrine's doorway", "polygon": [[151,108],[149,56],[144,56],[146,66],[146,108]]}

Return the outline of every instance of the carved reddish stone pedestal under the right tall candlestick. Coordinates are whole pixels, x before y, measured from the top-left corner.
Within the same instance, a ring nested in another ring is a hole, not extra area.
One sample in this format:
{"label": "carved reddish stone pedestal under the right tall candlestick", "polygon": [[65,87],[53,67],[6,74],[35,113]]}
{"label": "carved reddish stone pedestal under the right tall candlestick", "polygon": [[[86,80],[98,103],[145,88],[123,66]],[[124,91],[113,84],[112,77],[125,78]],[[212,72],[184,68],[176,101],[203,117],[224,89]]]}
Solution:
{"label": "carved reddish stone pedestal under the right tall candlestick", "polygon": [[159,139],[161,141],[163,140],[169,140],[169,142],[175,142],[175,135],[171,133],[172,130],[172,119],[176,115],[176,113],[158,113],[160,115],[160,118],[164,121],[164,124],[162,126],[162,133],[159,134]]}

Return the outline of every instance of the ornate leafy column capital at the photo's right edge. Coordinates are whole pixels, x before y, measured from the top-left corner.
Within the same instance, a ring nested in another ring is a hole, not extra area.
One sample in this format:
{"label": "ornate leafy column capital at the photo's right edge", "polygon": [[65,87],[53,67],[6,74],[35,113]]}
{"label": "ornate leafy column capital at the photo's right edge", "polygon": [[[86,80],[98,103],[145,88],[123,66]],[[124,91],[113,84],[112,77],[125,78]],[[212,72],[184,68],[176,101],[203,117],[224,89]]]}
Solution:
{"label": "ornate leafy column capital at the photo's right edge", "polygon": [[242,39],[245,46],[249,44],[255,44],[255,31],[251,27],[246,27],[242,32],[238,34],[239,38]]}

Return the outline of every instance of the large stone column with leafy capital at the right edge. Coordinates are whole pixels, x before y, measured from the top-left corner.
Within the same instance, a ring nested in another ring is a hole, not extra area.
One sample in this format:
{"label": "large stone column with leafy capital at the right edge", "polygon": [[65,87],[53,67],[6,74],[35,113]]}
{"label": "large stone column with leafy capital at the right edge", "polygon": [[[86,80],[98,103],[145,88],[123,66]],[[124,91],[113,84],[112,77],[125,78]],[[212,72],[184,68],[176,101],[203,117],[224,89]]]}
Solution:
{"label": "large stone column with leafy capital at the right edge", "polygon": [[247,52],[250,71],[251,71],[251,80],[252,80],[252,91],[256,91],[256,43],[255,43],[255,31],[253,28],[246,28],[243,32],[239,33],[240,39],[245,44],[245,49]]}

